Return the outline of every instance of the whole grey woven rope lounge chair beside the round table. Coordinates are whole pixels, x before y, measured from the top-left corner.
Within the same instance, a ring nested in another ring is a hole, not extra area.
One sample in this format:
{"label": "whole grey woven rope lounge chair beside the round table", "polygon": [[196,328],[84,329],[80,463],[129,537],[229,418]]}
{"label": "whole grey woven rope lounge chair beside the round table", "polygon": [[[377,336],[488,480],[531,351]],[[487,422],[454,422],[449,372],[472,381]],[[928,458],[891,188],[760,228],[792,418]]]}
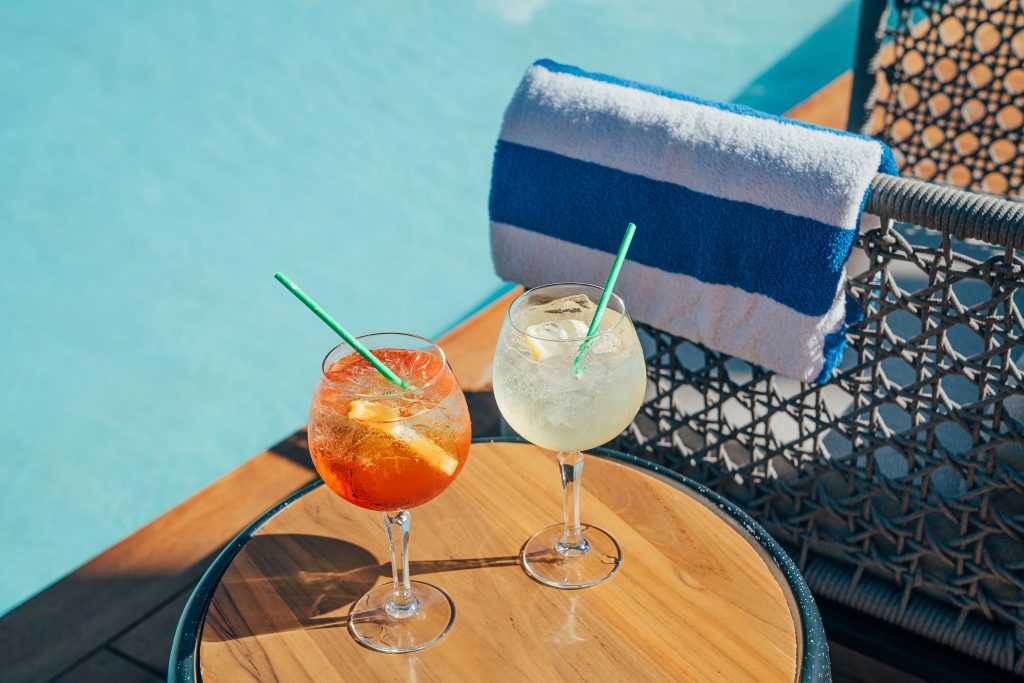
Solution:
{"label": "whole grey woven rope lounge chair beside the round table", "polygon": [[[886,3],[864,4],[850,128],[866,122],[907,175],[1020,197],[1024,121],[999,116],[1017,102],[1017,3],[900,2],[878,34]],[[1001,92],[973,85],[986,70]],[[929,120],[944,89],[955,104]],[[972,99],[994,111],[972,121]],[[866,314],[829,384],[640,326],[655,392],[614,445],[743,506],[798,558],[829,637],[922,675],[976,678],[950,651],[1022,674],[1024,205],[879,176],[867,211],[881,225],[849,264]]]}

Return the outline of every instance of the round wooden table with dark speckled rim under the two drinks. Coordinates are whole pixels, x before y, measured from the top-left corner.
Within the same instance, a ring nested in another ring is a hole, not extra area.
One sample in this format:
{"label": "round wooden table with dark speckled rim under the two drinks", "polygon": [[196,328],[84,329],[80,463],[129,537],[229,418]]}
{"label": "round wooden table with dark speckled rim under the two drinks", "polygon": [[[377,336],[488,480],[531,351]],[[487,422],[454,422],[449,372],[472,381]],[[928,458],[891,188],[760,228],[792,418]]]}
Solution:
{"label": "round wooden table with dark speckled rim under the two drinks", "polygon": [[452,596],[452,632],[411,654],[372,651],[346,625],[390,581],[381,518],[322,483],[218,556],[182,614],[171,680],[828,680],[817,608],[781,548],[645,461],[599,450],[584,471],[584,522],[618,539],[618,572],[580,591],[529,579],[519,550],[561,518],[558,469],[501,440],[475,442],[456,482],[413,510],[413,579]]}

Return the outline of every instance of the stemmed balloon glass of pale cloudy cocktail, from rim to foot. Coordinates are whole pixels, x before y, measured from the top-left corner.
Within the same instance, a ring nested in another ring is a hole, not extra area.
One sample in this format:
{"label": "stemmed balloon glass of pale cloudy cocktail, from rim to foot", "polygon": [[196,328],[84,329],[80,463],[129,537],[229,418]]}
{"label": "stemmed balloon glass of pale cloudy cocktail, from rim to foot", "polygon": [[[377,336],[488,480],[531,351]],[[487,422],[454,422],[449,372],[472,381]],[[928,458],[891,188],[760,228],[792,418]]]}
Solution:
{"label": "stemmed balloon glass of pale cloudy cocktail, from rim to foot", "polygon": [[623,557],[610,533],[580,521],[582,452],[622,433],[646,388],[643,350],[618,296],[610,296],[596,334],[587,334],[603,292],[581,284],[525,292],[509,307],[495,351],[502,416],[531,443],[557,452],[564,521],[535,533],[521,557],[529,575],[555,588],[599,584]]}

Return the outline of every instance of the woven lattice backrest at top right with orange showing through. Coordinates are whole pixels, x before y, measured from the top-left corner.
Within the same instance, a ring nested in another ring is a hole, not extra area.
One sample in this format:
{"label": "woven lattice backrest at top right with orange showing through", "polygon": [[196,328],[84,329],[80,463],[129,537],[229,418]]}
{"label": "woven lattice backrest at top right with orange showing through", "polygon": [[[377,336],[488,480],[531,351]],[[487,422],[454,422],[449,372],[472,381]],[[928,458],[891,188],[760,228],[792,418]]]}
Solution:
{"label": "woven lattice backrest at top right with orange showing through", "polygon": [[904,175],[1024,196],[1019,0],[891,0],[864,131]]}

